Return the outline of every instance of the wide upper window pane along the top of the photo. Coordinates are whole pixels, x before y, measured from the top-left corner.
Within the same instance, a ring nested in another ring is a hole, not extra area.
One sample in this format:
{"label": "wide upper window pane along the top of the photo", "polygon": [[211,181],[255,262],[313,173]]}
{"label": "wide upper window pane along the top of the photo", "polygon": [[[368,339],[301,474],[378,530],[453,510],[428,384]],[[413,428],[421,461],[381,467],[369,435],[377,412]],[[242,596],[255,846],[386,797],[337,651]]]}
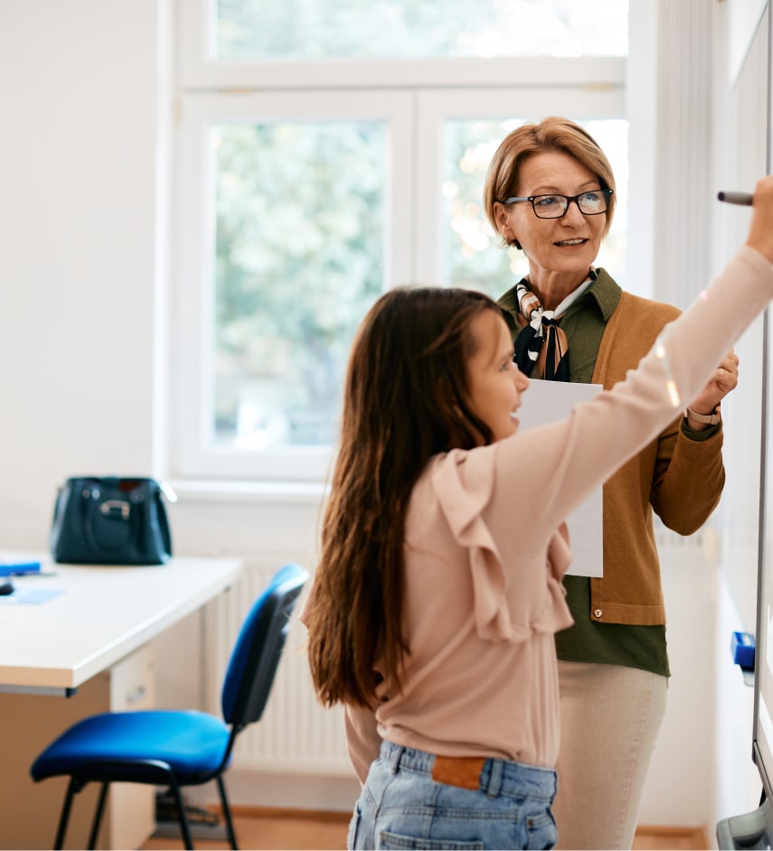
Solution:
{"label": "wide upper window pane along the top of the photo", "polygon": [[625,0],[212,0],[212,58],[625,56]]}

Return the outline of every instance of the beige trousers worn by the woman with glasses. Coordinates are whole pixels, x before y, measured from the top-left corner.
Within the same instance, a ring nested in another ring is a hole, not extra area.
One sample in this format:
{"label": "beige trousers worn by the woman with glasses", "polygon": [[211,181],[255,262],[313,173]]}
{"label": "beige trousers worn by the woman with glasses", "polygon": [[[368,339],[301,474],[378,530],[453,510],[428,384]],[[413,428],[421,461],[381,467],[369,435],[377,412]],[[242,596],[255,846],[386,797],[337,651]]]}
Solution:
{"label": "beige trousers worn by the woman with glasses", "polygon": [[668,679],[620,665],[559,661],[559,682],[556,847],[629,849]]}

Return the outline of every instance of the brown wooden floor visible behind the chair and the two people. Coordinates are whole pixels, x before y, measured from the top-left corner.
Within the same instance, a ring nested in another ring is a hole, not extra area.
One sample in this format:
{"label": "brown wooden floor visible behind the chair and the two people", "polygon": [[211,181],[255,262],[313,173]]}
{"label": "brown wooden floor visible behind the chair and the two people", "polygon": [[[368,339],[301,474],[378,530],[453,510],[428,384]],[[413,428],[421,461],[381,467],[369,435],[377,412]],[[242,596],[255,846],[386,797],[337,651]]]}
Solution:
{"label": "brown wooden floor visible behind the chair and the two people", "polygon": [[[303,810],[233,808],[234,829],[242,851],[326,851],[346,847],[349,825],[347,813],[317,813]],[[206,839],[194,835],[197,849],[228,848],[222,839]],[[180,839],[148,839],[145,851],[152,849],[178,849]],[[692,851],[709,848],[702,828],[638,828],[634,840],[635,851]]]}

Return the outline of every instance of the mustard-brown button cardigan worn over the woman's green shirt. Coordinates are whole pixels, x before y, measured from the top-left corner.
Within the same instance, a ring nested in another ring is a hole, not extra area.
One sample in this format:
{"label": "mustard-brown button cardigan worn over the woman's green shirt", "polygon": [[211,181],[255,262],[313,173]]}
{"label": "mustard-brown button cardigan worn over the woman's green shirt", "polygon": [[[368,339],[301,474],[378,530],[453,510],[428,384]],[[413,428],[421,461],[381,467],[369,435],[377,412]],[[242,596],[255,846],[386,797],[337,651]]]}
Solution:
{"label": "mustard-brown button cardigan worn over the woman's green shirt", "polygon": [[[623,291],[601,338],[593,383],[610,388],[625,379],[678,315],[669,304]],[[721,428],[695,441],[681,424],[680,416],[604,485],[604,578],[590,580],[593,621],[665,623],[652,512],[666,527],[690,535],[720,501],[725,481]]]}

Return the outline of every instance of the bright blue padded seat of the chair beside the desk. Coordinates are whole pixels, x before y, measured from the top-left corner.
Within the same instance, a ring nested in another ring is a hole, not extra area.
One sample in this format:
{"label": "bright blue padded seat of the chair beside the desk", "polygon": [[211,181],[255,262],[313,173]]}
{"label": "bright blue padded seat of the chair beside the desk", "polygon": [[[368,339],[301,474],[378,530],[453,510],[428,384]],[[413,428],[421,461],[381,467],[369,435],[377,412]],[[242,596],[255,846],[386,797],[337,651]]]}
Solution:
{"label": "bright blue padded seat of the chair beside the desk", "polygon": [[40,781],[77,773],[94,761],[153,760],[168,763],[181,784],[195,784],[218,772],[230,734],[220,718],[196,710],[91,715],[52,742],[30,773]]}

